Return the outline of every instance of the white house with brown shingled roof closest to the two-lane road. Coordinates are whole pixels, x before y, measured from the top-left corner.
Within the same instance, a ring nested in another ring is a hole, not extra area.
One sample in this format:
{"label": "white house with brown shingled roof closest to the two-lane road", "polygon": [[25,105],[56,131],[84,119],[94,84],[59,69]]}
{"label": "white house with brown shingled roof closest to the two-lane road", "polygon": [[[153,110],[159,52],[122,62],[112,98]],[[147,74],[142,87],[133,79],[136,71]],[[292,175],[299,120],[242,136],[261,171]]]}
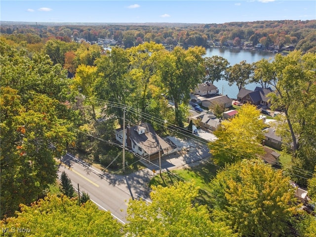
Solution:
{"label": "white house with brown shingled roof closest to the two-lane road", "polygon": [[[118,142],[123,143],[123,129],[118,129],[115,137]],[[177,150],[174,144],[168,144],[159,137],[147,122],[133,127],[127,126],[125,139],[129,150],[150,161],[159,157],[159,151],[162,157]]]}

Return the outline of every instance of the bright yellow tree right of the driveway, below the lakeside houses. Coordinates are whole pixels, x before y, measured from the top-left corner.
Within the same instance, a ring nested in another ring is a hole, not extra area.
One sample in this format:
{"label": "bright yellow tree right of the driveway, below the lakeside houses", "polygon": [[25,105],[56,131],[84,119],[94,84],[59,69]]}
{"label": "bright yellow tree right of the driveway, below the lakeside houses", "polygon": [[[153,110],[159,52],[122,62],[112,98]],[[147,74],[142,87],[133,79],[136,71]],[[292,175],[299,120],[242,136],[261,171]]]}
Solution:
{"label": "bright yellow tree right of the driveway, below the lakeside houses", "polygon": [[215,163],[234,163],[263,154],[258,143],[264,138],[265,124],[259,115],[255,106],[245,104],[232,120],[222,121],[222,127],[214,132],[218,139],[208,145]]}

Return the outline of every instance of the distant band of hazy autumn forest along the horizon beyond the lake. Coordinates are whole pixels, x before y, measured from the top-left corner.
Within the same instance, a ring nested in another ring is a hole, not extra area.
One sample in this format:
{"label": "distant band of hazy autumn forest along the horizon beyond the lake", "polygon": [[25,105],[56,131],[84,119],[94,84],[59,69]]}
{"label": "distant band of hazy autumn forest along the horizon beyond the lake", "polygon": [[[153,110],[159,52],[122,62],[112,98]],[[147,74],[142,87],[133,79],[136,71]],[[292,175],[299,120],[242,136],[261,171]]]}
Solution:
{"label": "distant band of hazy autumn forest along the horizon beyond the lake", "polygon": [[[264,45],[294,45],[302,51],[316,51],[316,20],[279,20],[230,22],[224,24],[184,23],[23,23],[1,22],[1,34],[14,35],[21,41],[39,43],[41,40],[60,38],[65,41],[82,38],[88,41],[113,39],[117,45],[136,46],[145,41],[168,45],[208,47],[218,41],[234,41]],[[130,43],[127,43],[130,42]],[[211,43],[211,44],[210,44]]]}

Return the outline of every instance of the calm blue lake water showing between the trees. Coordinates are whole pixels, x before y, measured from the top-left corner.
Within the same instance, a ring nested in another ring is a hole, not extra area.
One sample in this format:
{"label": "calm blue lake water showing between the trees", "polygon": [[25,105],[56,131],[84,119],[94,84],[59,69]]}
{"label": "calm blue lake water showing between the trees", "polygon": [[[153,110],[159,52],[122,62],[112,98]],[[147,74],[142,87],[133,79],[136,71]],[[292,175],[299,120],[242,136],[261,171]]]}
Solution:
{"label": "calm blue lake water showing between the trees", "polygon": [[[251,50],[251,49],[238,49],[238,48],[221,48],[212,47],[206,49],[204,57],[221,56],[226,58],[230,63],[229,66],[233,66],[241,61],[245,60],[247,63],[254,63],[262,58],[273,60],[275,54],[267,51]],[[229,86],[226,80],[215,81],[214,85],[217,86],[219,93],[227,95],[232,99],[237,99],[238,87],[236,84]],[[261,86],[258,83],[251,83],[245,86],[246,89],[254,90],[256,86]]]}

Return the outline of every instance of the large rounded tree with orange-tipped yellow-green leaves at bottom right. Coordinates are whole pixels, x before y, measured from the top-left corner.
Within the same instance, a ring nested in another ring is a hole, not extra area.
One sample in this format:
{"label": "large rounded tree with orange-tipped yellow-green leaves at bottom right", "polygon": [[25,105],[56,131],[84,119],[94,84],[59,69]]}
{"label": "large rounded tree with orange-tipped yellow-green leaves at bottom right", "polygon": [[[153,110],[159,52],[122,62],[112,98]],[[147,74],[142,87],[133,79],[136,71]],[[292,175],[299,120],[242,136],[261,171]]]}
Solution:
{"label": "large rounded tree with orange-tipped yellow-green leaves at bottom right", "polygon": [[260,159],[227,165],[211,181],[211,215],[238,236],[289,236],[288,223],[299,213],[289,181]]}

